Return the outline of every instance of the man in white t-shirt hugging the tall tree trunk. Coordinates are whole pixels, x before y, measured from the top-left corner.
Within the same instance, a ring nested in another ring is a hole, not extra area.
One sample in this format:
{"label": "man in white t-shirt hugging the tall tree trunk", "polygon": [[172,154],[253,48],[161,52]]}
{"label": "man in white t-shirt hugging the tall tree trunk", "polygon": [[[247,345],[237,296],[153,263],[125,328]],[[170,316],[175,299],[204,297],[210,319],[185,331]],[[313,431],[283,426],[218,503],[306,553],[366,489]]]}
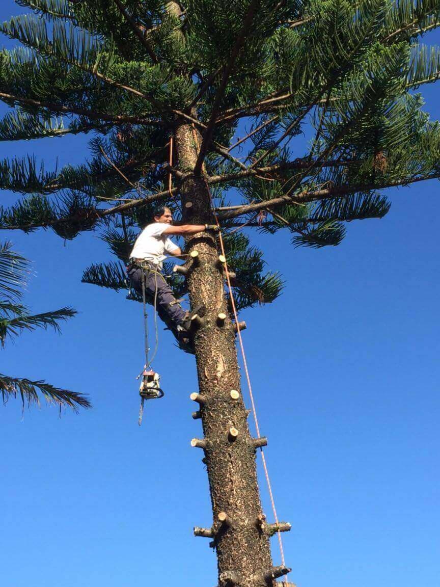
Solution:
{"label": "man in white t-shirt hugging the tall tree trunk", "polygon": [[187,236],[197,232],[218,232],[215,224],[172,224],[170,208],[158,206],[153,211],[154,222],[148,224],[134,243],[128,261],[127,272],[131,285],[143,295],[148,303],[154,304],[161,320],[167,324],[178,340],[188,340],[191,318],[196,313],[202,316],[205,308],[195,308],[191,313],[185,312],[175,299],[172,289],[161,274],[162,262],[166,254],[178,257],[182,255],[181,248],[171,241],[170,235]]}

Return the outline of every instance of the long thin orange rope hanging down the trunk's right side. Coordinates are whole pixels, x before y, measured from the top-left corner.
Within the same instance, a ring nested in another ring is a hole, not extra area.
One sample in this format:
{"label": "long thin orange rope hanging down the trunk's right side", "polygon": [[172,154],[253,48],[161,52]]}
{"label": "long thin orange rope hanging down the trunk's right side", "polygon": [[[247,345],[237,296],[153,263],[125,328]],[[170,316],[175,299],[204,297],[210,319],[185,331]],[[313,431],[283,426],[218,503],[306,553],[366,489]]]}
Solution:
{"label": "long thin orange rope hanging down the trunk's right side", "polygon": [[[195,132],[195,129],[194,129],[194,124],[192,124],[192,136],[194,137],[194,142],[197,145],[197,150],[198,150],[198,139],[197,139],[197,133]],[[206,177],[206,174],[205,174],[205,170],[204,169],[202,170],[202,175],[204,177],[205,184],[207,186],[209,198],[211,199],[212,214],[214,215],[216,225],[220,229],[221,226],[220,226],[220,223],[218,221],[218,216],[216,215],[215,210],[214,210],[214,205],[212,203],[211,190],[209,189],[209,184],[208,184],[208,180],[207,180],[207,177]],[[222,255],[223,255],[224,259],[225,259],[224,268],[225,268],[226,282],[228,284],[229,298],[231,298],[232,312],[233,312],[233,316],[234,316],[234,319],[235,319],[235,324],[236,324],[236,327],[237,327],[237,336],[238,336],[238,341],[239,341],[239,345],[240,345],[241,355],[242,355],[242,359],[243,359],[243,367],[244,367],[244,370],[245,370],[246,382],[248,384],[249,396],[251,397],[252,414],[253,414],[253,420],[255,422],[255,430],[256,430],[257,437],[260,438],[260,427],[259,427],[259,423],[258,423],[258,416],[257,416],[257,413],[256,413],[255,400],[253,399],[251,377],[249,376],[248,361],[246,360],[245,347],[243,345],[243,338],[242,338],[242,335],[241,335],[240,323],[238,321],[238,314],[237,314],[237,309],[236,309],[236,305],[235,305],[235,299],[233,298],[233,292],[232,292],[232,286],[231,286],[231,278],[229,276],[228,261],[226,259],[225,247],[224,247],[224,242],[223,242],[223,237],[222,237],[221,230],[219,230],[218,235],[219,235],[219,242],[220,242],[221,253],[222,253]],[[262,459],[262,462],[263,462],[263,470],[265,472],[265,477],[266,477],[266,483],[268,485],[268,491],[269,491],[269,497],[270,497],[270,504],[272,505],[273,517],[275,518],[275,524],[278,527],[279,521],[278,521],[278,516],[277,516],[277,513],[276,513],[275,500],[273,498],[273,492],[272,492],[272,484],[270,483],[268,465],[266,463],[266,457],[265,457],[265,454],[264,454],[264,451],[263,451],[263,447],[260,447],[260,451],[261,451],[261,459]],[[281,532],[280,532],[279,529],[277,530],[277,535],[278,535],[278,544],[279,544],[279,548],[280,548],[281,562],[282,562],[282,565],[283,566],[286,566],[286,561],[285,561],[285,556],[284,556],[284,548],[283,548],[283,541],[282,541]],[[287,576],[287,575],[285,575],[285,576]],[[281,581],[281,583],[285,583],[286,587],[288,585],[287,581]]]}

